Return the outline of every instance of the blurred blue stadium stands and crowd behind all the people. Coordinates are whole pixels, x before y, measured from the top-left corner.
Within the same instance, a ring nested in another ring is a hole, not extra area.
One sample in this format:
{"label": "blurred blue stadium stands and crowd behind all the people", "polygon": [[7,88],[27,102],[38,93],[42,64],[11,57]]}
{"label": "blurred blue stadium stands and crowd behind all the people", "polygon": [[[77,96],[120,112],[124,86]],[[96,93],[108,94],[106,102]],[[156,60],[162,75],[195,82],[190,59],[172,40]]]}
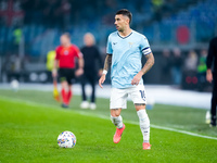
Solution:
{"label": "blurred blue stadium stands and crowd behind all the people", "polygon": [[104,58],[114,13],[122,8],[132,12],[131,27],[148,37],[156,58],[145,84],[209,90],[205,58],[217,34],[214,0],[0,0],[0,82],[49,82],[47,54],[63,32],[78,47],[84,34],[92,33]]}

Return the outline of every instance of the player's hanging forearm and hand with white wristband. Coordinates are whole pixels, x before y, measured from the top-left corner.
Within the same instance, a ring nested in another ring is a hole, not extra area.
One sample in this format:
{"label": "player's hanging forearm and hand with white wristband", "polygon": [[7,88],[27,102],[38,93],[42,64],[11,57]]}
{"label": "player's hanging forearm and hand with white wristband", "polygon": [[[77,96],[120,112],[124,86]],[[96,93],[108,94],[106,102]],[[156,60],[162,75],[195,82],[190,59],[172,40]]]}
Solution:
{"label": "player's hanging forearm and hand with white wristband", "polygon": [[111,67],[111,64],[112,64],[112,54],[107,54],[106,58],[105,58],[105,62],[104,62],[104,68],[103,68],[103,73],[102,73],[102,76],[100,77],[99,79],[99,86],[101,88],[102,87],[102,84],[105,82],[105,76],[107,74],[107,71],[110,70]]}

